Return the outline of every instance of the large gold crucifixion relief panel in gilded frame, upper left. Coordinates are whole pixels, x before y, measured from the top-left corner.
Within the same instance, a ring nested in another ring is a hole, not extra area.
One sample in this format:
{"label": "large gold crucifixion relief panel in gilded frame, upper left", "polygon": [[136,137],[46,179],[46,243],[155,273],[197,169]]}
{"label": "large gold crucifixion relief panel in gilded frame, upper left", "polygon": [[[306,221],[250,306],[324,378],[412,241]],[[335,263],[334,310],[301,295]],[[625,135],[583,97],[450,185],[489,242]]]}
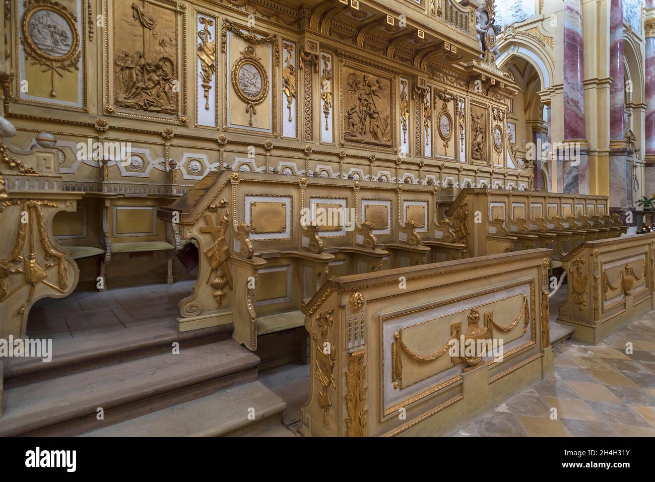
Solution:
{"label": "large gold crucifixion relief panel in gilded frame, upper left", "polygon": [[[180,38],[187,38],[186,9],[180,7],[185,4],[171,0],[142,0],[140,2],[115,0],[112,5],[113,8],[109,9],[109,2],[105,0],[103,3],[105,22],[111,24],[111,28],[107,26],[104,29],[105,113],[187,125],[189,123],[187,117],[187,48],[179,41]],[[160,22],[164,13],[174,19],[167,29],[162,29],[163,23]],[[133,52],[126,49],[119,51],[117,44],[121,37],[117,35],[117,29],[121,28],[121,22],[130,21],[141,25],[143,47],[133,49]],[[159,34],[155,33],[155,29],[158,28]],[[111,31],[111,38],[109,31]],[[155,41],[155,45],[151,45],[150,39]],[[146,53],[145,50],[149,50],[149,52]],[[146,79],[146,81],[151,81],[151,84],[159,82],[162,85],[160,99],[154,102],[150,98],[151,96],[148,96],[149,84],[147,82],[141,83],[145,90],[122,92],[117,95],[117,89],[120,88],[118,83],[122,82],[122,75],[128,74],[132,70],[132,65],[136,67],[141,64],[141,68],[143,68],[144,63],[149,64],[145,71],[150,71],[151,75],[157,77],[157,79]]]}

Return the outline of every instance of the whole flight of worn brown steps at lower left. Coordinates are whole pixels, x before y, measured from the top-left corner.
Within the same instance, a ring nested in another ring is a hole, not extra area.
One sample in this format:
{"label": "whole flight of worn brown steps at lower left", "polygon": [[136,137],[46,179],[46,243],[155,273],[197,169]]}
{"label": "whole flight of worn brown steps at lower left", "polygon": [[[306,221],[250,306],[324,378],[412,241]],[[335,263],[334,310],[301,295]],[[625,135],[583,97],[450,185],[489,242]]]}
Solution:
{"label": "whole flight of worn brown steps at lower left", "polygon": [[178,333],[163,322],[54,341],[50,363],[7,358],[0,436],[243,436],[276,426],[286,403],[257,380],[259,357],[232,329]]}

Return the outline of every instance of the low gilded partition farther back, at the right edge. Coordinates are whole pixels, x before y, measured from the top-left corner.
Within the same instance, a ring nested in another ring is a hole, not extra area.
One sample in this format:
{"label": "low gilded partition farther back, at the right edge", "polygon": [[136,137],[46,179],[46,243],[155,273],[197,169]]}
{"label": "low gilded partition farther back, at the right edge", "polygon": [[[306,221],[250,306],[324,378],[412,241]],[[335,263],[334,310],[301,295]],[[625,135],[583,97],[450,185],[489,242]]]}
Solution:
{"label": "low gilded partition farther back, at the right edge", "polygon": [[557,322],[573,338],[599,343],[612,331],[654,309],[655,234],[580,244],[562,259],[569,293]]}

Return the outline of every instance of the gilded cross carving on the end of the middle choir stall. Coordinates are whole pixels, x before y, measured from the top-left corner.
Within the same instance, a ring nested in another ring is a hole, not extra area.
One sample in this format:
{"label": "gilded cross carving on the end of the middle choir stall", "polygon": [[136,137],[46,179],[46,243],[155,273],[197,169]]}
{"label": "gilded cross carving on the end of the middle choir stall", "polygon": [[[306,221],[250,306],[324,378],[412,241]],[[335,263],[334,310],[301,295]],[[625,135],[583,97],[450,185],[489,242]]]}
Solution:
{"label": "gilded cross carving on the end of the middle choir stall", "polygon": [[[227,200],[221,200],[218,206],[210,206],[210,211],[218,211],[220,208],[227,208]],[[201,227],[200,232],[208,232],[214,239],[214,244],[204,251],[210,266],[210,270],[206,283],[209,283],[216,291],[214,292],[214,299],[218,306],[221,306],[221,300],[227,293],[224,290],[225,286],[232,289],[232,272],[227,260],[230,257],[230,247],[225,239],[225,234],[230,223],[230,212],[225,210],[223,216],[220,218],[220,224],[214,223],[214,217],[210,213],[205,214],[206,227]],[[215,277],[210,282],[212,273],[215,272]]]}

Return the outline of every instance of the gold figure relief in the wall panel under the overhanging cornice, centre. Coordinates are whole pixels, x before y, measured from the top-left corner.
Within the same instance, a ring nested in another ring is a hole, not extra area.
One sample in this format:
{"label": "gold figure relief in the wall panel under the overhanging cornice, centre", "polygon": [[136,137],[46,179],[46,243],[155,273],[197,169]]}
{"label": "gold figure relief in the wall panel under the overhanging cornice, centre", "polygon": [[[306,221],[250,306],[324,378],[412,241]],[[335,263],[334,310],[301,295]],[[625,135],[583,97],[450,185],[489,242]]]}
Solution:
{"label": "gold figure relief in the wall panel under the overhanging cornice, centre", "polygon": [[[388,84],[388,81],[384,81]],[[388,114],[389,86],[371,75],[352,72],[346,77],[344,138],[367,144],[391,146]],[[378,100],[381,105],[378,105]],[[352,102],[352,103],[350,103]],[[349,103],[349,105],[348,105]],[[381,112],[384,103],[386,112]]]}

